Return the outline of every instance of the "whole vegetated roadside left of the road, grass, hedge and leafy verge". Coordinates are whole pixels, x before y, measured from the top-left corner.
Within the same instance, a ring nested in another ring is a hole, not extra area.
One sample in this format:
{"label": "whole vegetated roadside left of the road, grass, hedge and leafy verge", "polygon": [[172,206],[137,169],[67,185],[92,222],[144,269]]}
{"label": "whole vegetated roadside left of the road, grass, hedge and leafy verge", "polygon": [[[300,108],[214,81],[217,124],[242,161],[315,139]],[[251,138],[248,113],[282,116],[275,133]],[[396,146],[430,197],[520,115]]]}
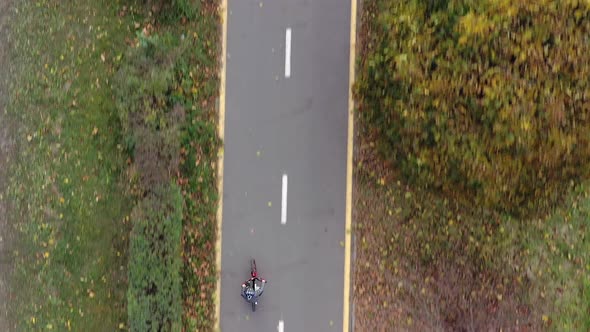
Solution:
{"label": "whole vegetated roadside left of the road, grass, hedge and leafy verge", "polygon": [[217,2],[14,15],[14,328],[211,330]]}

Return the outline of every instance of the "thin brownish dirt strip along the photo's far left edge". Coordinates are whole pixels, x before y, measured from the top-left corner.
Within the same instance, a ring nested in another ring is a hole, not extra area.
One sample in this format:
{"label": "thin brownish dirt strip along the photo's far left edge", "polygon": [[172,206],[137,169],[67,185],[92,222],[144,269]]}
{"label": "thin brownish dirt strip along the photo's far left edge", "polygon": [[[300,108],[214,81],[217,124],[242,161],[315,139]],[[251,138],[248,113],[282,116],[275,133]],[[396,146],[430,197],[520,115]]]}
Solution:
{"label": "thin brownish dirt strip along the photo's far left edge", "polygon": [[11,0],[0,0],[0,331],[10,331],[8,325],[8,274],[11,270],[8,211],[4,191],[10,157],[13,155],[14,141],[11,137],[11,126],[6,116],[5,107],[8,96],[8,24]]}

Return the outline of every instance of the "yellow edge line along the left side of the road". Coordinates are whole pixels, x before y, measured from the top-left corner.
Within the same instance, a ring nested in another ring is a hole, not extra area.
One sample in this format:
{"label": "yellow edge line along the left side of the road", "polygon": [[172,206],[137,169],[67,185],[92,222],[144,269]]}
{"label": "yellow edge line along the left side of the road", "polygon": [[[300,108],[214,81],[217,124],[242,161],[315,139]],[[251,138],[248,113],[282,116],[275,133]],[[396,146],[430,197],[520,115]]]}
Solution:
{"label": "yellow edge line along the left side of the road", "polygon": [[223,217],[223,154],[225,138],[225,79],[227,59],[227,0],[221,0],[221,79],[219,84],[219,123],[217,131],[221,140],[221,147],[217,155],[217,243],[215,244],[216,265],[217,265],[217,287],[215,290],[215,331],[221,331],[221,227]]}

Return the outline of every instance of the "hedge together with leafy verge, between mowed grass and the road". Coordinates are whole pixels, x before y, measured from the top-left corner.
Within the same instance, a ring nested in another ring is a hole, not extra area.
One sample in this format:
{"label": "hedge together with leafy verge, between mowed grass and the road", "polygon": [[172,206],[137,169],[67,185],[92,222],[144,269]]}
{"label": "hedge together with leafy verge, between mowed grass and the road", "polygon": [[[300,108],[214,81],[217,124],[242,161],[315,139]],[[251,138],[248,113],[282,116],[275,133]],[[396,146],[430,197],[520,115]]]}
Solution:
{"label": "hedge together with leafy verge, between mowed grass and the road", "polygon": [[[139,202],[131,218],[129,320],[137,331],[211,330],[217,3],[164,3],[156,13],[114,80],[129,188]],[[142,248],[156,249],[146,257]]]}

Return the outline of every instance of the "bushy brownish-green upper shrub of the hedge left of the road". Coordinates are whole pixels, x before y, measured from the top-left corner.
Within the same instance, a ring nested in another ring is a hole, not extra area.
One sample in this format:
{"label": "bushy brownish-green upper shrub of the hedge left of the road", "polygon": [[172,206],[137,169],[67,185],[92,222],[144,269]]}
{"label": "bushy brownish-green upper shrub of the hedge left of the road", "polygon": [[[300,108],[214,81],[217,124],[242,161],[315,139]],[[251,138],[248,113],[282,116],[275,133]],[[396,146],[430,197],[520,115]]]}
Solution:
{"label": "bushy brownish-green upper shrub of the hedge left of the road", "polygon": [[179,161],[184,108],[173,102],[174,68],[183,46],[171,35],[139,34],[114,89],[126,145],[143,192],[167,183]]}

